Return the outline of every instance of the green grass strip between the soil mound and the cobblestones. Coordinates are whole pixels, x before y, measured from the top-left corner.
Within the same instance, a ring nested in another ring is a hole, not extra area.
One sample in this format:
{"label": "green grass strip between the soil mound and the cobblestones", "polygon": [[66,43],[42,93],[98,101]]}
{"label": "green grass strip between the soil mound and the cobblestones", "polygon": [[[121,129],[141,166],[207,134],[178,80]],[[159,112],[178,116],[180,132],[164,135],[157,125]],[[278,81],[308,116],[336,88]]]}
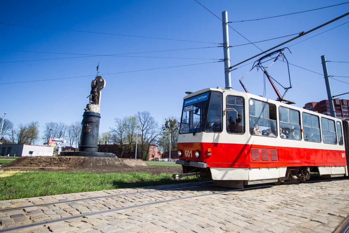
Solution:
{"label": "green grass strip between the soil mound and the cobblestones", "polygon": [[200,181],[196,177],[176,181],[171,175],[0,170],[0,200]]}

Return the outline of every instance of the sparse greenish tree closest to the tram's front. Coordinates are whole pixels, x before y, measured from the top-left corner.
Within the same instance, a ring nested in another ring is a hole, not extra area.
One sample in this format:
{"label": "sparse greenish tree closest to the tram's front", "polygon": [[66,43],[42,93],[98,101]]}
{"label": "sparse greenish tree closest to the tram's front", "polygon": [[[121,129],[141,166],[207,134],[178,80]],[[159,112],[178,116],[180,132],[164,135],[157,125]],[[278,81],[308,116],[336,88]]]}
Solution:
{"label": "sparse greenish tree closest to the tram's front", "polygon": [[177,150],[177,141],[179,133],[180,122],[175,117],[169,117],[165,119],[165,123],[162,126],[163,137],[162,141],[165,148],[169,149],[169,137],[171,138],[171,150]]}

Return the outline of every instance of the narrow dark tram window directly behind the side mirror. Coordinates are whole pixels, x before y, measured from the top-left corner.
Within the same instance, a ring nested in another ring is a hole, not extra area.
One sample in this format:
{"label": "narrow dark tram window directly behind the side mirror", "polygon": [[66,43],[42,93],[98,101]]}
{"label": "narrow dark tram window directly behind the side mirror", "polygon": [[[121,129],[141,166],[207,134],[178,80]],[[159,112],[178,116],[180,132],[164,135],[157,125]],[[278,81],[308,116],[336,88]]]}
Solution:
{"label": "narrow dark tram window directly behind the side mirror", "polygon": [[227,96],[227,131],[233,134],[245,133],[244,98]]}

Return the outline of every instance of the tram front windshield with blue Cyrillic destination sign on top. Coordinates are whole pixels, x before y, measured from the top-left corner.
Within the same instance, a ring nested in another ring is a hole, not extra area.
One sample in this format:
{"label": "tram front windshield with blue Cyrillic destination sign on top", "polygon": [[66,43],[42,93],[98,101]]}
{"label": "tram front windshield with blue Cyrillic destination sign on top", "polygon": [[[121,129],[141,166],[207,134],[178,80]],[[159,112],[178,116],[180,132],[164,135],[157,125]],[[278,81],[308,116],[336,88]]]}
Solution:
{"label": "tram front windshield with blue Cyrillic destination sign on top", "polygon": [[202,131],[204,114],[208,104],[209,92],[199,94],[184,100],[180,134]]}

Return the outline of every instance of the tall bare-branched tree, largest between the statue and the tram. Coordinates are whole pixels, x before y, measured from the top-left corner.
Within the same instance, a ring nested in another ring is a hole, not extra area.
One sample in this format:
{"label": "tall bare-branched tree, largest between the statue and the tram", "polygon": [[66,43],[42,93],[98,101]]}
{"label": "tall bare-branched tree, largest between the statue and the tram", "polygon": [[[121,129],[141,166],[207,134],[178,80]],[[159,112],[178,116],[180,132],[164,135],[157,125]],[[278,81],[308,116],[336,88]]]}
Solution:
{"label": "tall bare-branched tree, largest between the statue and the tram", "polygon": [[149,148],[156,145],[161,130],[148,111],[138,112],[136,118],[138,119],[141,136],[141,158],[142,160],[147,160]]}

